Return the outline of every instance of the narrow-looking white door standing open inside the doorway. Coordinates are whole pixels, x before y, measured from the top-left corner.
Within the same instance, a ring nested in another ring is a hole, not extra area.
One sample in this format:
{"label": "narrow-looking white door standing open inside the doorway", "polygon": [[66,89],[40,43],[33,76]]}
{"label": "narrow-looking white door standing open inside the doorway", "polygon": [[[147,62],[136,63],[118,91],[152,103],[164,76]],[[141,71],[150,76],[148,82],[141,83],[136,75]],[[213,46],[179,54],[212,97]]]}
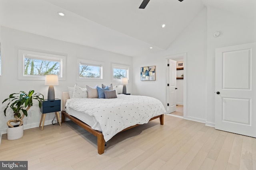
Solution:
{"label": "narrow-looking white door standing open inside the doorway", "polygon": [[168,113],[176,111],[176,63],[169,59]]}

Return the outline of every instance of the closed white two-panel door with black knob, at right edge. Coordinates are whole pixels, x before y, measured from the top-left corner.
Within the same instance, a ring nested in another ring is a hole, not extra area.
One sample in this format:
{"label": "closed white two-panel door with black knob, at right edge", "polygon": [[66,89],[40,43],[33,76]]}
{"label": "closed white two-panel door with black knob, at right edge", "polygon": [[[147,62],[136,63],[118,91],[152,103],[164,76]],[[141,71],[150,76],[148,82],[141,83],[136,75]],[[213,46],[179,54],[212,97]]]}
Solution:
{"label": "closed white two-panel door with black knob, at right edge", "polygon": [[215,128],[256,137],[256,43],[216,49]]}

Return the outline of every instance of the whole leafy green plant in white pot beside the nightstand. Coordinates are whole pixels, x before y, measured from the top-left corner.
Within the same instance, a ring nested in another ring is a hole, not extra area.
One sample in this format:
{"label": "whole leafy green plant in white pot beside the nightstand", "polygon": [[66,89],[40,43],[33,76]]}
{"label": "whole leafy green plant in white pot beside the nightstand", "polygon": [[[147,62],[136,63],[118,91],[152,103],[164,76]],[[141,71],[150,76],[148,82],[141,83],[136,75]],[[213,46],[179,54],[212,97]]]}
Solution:
{"label": "whole leafy green plant in white pot beside the nightstand", "polygon": [[[35,93],[34,90],[30,90],[28,93],[20,91],[19,93],[10,94],[9,98],[6,98],[2,104],[9,101],[4,109],[4,115],[6,116],[6,110],[10,107],[14,113],[14,118],[7,122],[7,138],[8,140],[19,139],[23,136],[23,118],[28,116],[28,109],[33,106],[33,100],[38,100],[39,108],[41,108],[41,100],[44,101],[44,95],[41,93]],[[11,125],[11,122],[20,122],[18,125]],[[16,128],[17,127],[17,128]],[[20,132],[16,132],[19,129]],[[17,135],[17,136],[16,136]]]}

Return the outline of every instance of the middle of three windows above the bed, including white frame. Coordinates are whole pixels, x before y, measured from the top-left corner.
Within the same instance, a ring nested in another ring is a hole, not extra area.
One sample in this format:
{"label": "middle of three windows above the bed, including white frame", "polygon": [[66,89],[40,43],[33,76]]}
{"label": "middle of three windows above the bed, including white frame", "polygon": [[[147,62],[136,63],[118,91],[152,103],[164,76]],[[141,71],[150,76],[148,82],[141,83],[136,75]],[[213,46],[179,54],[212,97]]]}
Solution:
{"label": "middle of three windows above the bed, including white frame", "polygon": [[103,79],[103,63],[84,59],[77,59],[77,63],[79,65],[78,81]]}

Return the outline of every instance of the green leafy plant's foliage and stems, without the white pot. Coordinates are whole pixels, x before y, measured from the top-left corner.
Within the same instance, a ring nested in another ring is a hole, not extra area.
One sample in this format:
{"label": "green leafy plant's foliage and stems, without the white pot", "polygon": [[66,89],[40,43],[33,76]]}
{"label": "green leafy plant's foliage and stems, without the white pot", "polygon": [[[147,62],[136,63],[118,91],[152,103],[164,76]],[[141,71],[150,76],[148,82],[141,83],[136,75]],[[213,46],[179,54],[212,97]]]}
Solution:
{"label": "green leafy plant's foliage and stems, without the white pot", "polygon": [[28,116],[28,109],[33,106],[33,100],[37,100],[39,108],[41,108],[41,100],[44,101],[44,95],[41,93],[35,93],[34,90],[30,90],[28,93],[20,91],[19,93],[10,94],[9,98],[6,98],[2,104],[9,101],[4,109],[4,115],[6,116],[6,110],[10,107],[14,113],[14,118],[7,122],[8,127],[14,127],[11,122],[20,122],[19,126],[23,125],[24,116]]}

